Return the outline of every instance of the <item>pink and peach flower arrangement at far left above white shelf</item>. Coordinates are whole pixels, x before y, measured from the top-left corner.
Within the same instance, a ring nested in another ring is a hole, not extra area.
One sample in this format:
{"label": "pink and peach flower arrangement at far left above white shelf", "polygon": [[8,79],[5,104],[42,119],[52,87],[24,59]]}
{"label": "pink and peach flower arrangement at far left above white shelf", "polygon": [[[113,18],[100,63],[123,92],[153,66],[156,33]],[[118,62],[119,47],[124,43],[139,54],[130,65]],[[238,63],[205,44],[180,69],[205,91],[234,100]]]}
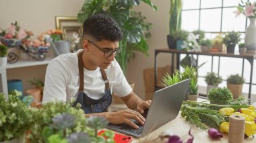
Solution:
{"label": "pink and peach flower arrangement at far left above white shelf", "polygon": [[32,32],[28,32],[20,27],[17,21],[11,23],[7,30],[0,30],[0,40],[5,46],[20,46],[22,40],[30,38]]}

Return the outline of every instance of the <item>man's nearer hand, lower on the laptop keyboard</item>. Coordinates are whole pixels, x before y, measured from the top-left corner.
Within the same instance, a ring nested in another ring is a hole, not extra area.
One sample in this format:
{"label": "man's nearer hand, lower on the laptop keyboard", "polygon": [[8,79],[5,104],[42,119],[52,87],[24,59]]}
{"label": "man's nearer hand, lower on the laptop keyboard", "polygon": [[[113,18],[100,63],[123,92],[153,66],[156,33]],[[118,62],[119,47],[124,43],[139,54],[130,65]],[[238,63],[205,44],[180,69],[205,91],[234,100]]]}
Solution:
{"label": "man's nearer hand, lower on the laptop keyboard", "polygon": [[133,128],[138,129],[139,127],[134,124],[130,119],[134,119],[139,124],[143,125],[145,124],[145,118],[137,111],[133,111],[131,109],[124,109],[121,111],[115,111],[115,112],[107,112],[107,120],[111,124],[128,124],[129,126],[132,126]]}

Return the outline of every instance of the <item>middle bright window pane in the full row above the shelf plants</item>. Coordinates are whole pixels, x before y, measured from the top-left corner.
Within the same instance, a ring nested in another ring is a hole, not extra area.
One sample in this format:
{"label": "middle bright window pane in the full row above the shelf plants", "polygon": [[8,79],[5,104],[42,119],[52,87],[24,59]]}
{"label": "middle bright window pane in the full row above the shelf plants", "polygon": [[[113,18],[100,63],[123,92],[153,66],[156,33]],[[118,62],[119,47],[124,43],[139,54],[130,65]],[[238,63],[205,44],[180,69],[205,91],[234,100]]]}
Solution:
{"label": "middle bright window pane in the full row above the shelf plants", "polygon": [[201,10],[200,30],[205,32],[220,32],[221,9]]}

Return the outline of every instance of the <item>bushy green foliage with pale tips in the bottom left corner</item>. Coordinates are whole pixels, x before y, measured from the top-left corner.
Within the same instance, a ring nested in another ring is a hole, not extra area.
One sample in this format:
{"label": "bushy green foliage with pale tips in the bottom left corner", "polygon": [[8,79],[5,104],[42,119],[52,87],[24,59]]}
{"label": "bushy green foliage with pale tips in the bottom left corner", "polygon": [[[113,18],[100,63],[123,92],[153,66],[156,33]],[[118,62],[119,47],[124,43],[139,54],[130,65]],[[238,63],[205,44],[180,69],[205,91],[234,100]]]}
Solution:
{"label": "bushy green foliage with pale tips in the bottom left corner", "polygon": [[31,110],[18,95],[11,94],[5,101],[5,95],[0,94],[0,142],[24,136],[32,123]]}

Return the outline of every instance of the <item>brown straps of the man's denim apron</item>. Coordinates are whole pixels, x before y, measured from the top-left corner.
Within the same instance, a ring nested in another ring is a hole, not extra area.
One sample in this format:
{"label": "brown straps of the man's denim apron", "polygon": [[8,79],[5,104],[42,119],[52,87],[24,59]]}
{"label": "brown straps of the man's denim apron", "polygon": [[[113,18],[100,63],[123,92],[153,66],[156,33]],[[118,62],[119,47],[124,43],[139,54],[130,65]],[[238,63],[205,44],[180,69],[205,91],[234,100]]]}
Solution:
{"label": "brown straps of the man's denim apron", "polygon": [[[83,62],[83,52],[77,53],[78,57],[78,68],[79,68],[79,89],[78,91],[84,92],[84,62]],[[101,75],[105,83],[105,91],[109,89],[108,78],[106,77],[106,72],[104,69],[100,69]]]}

